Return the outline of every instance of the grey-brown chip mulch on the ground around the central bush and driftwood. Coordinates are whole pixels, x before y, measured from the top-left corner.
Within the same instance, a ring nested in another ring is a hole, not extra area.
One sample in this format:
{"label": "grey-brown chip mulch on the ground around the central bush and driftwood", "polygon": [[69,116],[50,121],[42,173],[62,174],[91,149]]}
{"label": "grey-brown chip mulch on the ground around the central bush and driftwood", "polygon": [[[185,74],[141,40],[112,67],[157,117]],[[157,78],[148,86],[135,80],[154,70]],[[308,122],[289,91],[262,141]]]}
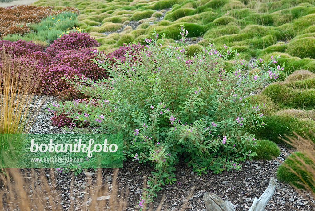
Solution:
{"label": "grey-brown chip mulch on the ground around the central bush and driftwood", "polygon": [[[48,97],[47,102],[56,103],[56,98]],[[69,131],[57,127],[51,129],[50,118],[52,117],[52,113],[46,113],[45,109],[46,108],[43,107],[39,112],[37,121],[31,128],[31,133],[69,133]],[[203,193],[213,192],[235,204],[236,211],[248,210],[254,197],[260,197],[266,190],[270,178],[276,177],[275,173],[278,166],[281,165],[280,162],[284,161],[290,154],[286,146],[279,145],[279,147],[281,149],[281,155],[277,158],[278,161],[246,161],[242,163],[243,167],[241,171],[223,172],[222,174],[208,173],[199,176],[194,174],[192,169],[187,167],[186,163],[180,162],[176,166],[176,183],[163,187],[163,190],[158,193],[158,199],[154,202],[155,208],[165,194],[162,210],[180,210],[183,203],[188,202],[187,211],[205,211]],[[135,205],[141,196],[143,179],[145,176],[150,175],[151,171],[153,171],[153,169],[149,165],[142,165],[131,161],[124,162],[124,167],[119,169],[117,176],[119,185],[118,192],[129,187],[127,210],[137,210]],[[93,172],[93,170],[91,172]],[[104,183],[111,184],[112,173],[112,169],[102,170]],[[71,174],[56,172],[54,177],[56,178],[57,184],[55,191],[61,191],[62,205],[66,210],[66,208],[70,206],[70,196],[64,193],[70,190]],[[74,190],[72,200],[75,200],[76,210],[81,210],[81,205],[84,203],[83,198],[86,197],[84,196],[84,192],[86,192],[86,189],[89,187],[85,186],[87,180],[84,173],[75,176],[74,180],[76,189]],[[289,184],[280,183],[279,188],[279,190],[276,189],[265,210],[315,210],[312,208],[314,201],[303,199]],[[187,198],[191,191],[193,192],[192,197]],[[89,196],[87,196],[87,198],[89,200]],[[88,203],[90,202],[91,201],[88,201]]]}

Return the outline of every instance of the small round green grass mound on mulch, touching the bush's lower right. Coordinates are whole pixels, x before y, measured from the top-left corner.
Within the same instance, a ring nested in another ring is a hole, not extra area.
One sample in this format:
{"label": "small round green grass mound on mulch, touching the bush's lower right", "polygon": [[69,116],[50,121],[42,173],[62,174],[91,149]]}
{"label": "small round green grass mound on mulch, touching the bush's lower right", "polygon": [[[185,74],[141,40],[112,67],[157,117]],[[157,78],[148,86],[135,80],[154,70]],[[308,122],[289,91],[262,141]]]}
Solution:
{"label": "small round green grass mound on mulch, touching the bush's lower right", "polygon": [[280,155],[280,149],[277,144],[269,140],[259,140],[257,149],[250,148],[251,151],[256,152],[255,160],[272,160],[274,157]]}

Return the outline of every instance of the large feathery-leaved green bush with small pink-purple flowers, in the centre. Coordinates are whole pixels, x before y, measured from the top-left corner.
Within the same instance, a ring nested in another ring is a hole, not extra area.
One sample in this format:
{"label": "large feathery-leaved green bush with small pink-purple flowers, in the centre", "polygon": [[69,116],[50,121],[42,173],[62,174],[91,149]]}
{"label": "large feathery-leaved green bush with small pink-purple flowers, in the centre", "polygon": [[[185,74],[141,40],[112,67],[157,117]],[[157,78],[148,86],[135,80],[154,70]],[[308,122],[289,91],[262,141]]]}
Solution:
{"label": "large feathery-leaved green bush with small pink-purple flowers, in the centre", "polygon": [[162,185],[174,183],[180,157],[201,174],[238,170],[240,161],[256,156],[253,148],[258,144],[252,133],[264,127],[264,114],[261,105],[253,106],[244,98],[281,71],[270,66],[277,62],[275,57],[266,64],[257,61],[261,72],[251,77],[244,75],[245,61],[235,62],[233,71],[226,73],[224,60],[233,53],[239,61],[237,53],[223,53],[214,45],[186,65],[188,32],[184,26],[180,30],[182,45],[163,49],[156,44],[159,35],[154,30],[136,61],[131,46],[126,60],[117,60],[114,66],[95,52],[94,61],[109,78],[96,83],[80,77],[67,81],[98,105],[65,102],[49,108],[56,114],[69,112],[73,120],[104,132],[122,133],[126,158],[154,166],[140,207],[157,196]]}

